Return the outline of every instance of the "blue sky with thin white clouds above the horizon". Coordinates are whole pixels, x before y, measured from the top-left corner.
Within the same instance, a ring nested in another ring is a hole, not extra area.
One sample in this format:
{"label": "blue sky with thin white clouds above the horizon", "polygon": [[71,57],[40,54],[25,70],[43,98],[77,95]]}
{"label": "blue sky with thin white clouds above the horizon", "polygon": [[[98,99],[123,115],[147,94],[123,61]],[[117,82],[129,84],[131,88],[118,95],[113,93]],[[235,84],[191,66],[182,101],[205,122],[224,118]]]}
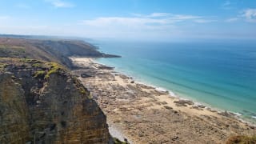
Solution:
{"label": "blue sky with thin white clouds above the horizon", "polygon": [[0,0],[0,33],[256,39],[256,0]]}

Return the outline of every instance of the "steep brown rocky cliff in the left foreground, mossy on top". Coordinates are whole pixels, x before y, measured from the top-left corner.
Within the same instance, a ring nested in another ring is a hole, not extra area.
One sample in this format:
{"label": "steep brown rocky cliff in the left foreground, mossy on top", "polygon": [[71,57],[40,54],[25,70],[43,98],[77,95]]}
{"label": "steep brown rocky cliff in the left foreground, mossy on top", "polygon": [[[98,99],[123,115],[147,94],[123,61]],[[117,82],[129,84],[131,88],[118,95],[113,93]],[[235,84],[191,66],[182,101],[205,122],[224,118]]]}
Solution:
{"label": "steep brown rocky cliff in the left foreground, mossy on top", "polygon": [[53,62],[0,59],[0,143],[110,143],[90,92]]}

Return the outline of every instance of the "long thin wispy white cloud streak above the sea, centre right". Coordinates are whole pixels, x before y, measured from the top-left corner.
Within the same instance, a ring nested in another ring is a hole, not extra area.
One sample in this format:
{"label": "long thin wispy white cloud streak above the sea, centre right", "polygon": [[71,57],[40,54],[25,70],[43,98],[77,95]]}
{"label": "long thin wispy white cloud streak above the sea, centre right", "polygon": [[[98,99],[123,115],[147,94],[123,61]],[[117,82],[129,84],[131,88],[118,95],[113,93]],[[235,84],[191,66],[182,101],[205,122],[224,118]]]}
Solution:
{"label": "long thin wispy white cloud streak above the sea, centre right", "polygon": [[85,25],[90,26],[107,26],[107,25],[122,25],[122,26],[162,26],[170,25],[176,22],[214,22],[202,16],[186,15],[186,14],[133,14],[133,17],[101,17],[82,21]]}

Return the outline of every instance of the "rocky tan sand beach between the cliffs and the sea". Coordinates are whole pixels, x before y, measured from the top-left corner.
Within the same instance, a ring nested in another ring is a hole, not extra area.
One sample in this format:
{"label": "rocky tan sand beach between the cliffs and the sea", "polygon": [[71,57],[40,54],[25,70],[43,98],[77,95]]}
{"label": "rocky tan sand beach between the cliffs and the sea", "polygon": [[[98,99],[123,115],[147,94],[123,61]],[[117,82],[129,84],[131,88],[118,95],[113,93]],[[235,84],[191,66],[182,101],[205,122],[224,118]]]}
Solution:
{"label": "rocky tan sand beach between the cliffs and the sea", "polygon": [[256,127],[190,100],[172,97],[92,58],[70,58],[72,71],[107,117],[110,133],[130,143],[224,143],[230,136],[256,134]]}

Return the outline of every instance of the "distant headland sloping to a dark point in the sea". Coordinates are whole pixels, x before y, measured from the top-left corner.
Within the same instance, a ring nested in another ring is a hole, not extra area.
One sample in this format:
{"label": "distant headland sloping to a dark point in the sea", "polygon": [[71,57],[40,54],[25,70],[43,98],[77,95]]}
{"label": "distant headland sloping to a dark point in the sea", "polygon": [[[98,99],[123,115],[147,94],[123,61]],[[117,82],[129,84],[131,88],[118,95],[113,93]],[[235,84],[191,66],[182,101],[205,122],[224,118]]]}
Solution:
{"label": "distant headland sloping to a dark point in the sea", "polygon": [[79,40],[62,39],[28,39],[0,38],[0,57],[2,58],[34,58],[47,62],[58,62],[73,69],[68,57],[113,58],[111,54],[103,54],[97,47]]}

